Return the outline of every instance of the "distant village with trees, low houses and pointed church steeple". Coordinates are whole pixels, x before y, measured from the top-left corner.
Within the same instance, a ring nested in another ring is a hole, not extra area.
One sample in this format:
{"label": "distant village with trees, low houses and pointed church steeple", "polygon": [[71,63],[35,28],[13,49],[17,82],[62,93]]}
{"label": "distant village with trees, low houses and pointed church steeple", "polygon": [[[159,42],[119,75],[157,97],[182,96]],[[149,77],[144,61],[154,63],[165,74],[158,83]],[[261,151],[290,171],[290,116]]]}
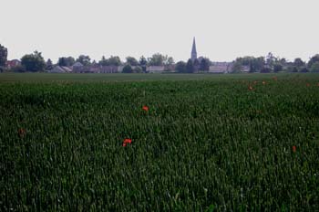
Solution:
{"label": "distant village with trees, low houses and pointed church steeple", "polygon": [[193,38],[190,59],[187,62],[174,62],[174,59],[160,53],[151,58],[126,58],[122,62],[117,56],[102,57],[101,60],[90,61],[85,55],[77,59],[59,58],[57,64],[51,59],[46,62],[40,52],[24,56],[21,59],[6,60],[7,49],[0,45],[1,72],[48,72],[48,73],[251,73],[251,72],[319,72],[319,55],[314,55],[308,62],[295,58],[293,62],[285,58],[274,57],[269,53],[266,57],[236,58],[232,62],[213,62],[209,58],[198,57],[195,37]]}

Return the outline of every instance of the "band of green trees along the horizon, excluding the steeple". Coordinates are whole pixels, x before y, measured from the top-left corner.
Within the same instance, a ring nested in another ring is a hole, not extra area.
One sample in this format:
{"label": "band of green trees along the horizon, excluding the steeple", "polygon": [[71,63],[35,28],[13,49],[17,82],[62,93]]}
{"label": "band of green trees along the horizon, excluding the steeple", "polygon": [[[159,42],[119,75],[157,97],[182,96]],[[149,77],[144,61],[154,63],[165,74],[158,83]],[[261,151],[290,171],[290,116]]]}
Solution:
{"label": "band of green trees along the horizon, excluding the steeple", "polygon": [[[0,44],[0,70],[5,70],[7,61],[7,48]],[[141,56],[139,59],[127,57],[122,61],[118,56],[102,57],[100,60],[92,60],[87,55],[80,55],[78,58],[61,57],[57,59],[57,63],[53,63],[51,59],[45,60],[41,52],[35,51],[26,54],[21,58],[21,65],[11,69],[16,72],[36,72],[53,69],[55,65],[62,67],[72,67],[75,63],[81,63],[83,66],[124,66],[122,72],[146,72],[148,66],[165,66],[169,71],[180,73],[194,73],[199,71],[209,71],[211,63],[209,58],[197,58],[195,60],[179,61],[175,63],[174,58],[162,55],[160,53],[153,54],[150,58]],[[274,57],[273,53],[269,53],[267,57],[243,57],[236,58],[231,63],[233,73],[242,72],[243,69],[249,72],[319,72],[319,54],[314,55],[309,61],[305,62],[302,58],[295,58],[293,62],[287,61],[285,58]]]}

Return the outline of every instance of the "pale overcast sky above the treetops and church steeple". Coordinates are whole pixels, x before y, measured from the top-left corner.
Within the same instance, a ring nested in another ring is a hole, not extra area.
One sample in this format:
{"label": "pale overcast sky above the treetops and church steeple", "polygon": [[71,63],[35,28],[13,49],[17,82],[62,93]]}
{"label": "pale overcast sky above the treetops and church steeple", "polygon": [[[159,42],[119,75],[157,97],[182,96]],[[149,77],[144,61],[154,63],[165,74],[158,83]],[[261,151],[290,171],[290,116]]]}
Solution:
{"label": "pale overcast sky above the treetops and church steeple", "polygon": [[319,53],[318,0],[0,0],[8,58],[34,50],[54,62],[80,54],[150,57],[160,52],[231,61],[242,56],[307,60]]}

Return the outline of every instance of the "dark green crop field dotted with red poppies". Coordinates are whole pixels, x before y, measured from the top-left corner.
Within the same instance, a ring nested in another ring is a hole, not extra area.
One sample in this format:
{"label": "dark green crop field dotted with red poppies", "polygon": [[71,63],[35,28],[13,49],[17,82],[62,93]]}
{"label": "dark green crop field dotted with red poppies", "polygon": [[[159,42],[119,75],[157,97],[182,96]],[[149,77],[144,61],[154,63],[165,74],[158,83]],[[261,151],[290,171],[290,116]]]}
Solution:
{"label": "dark green crop field dotted with red poppies", "polygon": [[319,211],[318,74],[0,74],[0,211]]}

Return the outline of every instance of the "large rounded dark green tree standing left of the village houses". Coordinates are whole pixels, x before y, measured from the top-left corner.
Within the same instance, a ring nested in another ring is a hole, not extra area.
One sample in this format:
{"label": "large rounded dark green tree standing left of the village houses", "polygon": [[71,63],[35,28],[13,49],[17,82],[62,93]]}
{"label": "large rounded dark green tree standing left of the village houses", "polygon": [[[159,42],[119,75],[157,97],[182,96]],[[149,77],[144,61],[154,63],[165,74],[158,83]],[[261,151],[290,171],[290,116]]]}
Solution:
{"label": "large rounded dark green tree standing left of the village houses", "polygon": [[46,68],[46,61],[41,52],[35,51],[33,54],[25,55],[21,58],[21,65],[26,71],[43,71]]}

